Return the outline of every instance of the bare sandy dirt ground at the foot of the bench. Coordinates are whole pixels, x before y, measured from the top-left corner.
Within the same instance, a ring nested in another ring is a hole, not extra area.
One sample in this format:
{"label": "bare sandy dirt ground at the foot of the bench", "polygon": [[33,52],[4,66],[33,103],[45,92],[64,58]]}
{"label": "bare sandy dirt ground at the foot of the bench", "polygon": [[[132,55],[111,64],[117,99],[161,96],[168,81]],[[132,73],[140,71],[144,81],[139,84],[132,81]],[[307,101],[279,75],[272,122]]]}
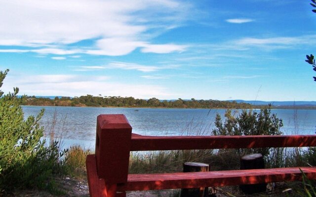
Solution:
{"label": "bare sandy dirt ground at the foot of the bench", "polygon": [[[56,179],[58,189],[63,191],[60,195],[52,195],[39,190],[16,190],[10,197],[89,197],[87,181],[84,179],[75,179],[70,177]],[[259,194],[243,194],[238,186],[228,186],[216,188],[216,194],[209,197],[295,197],[294,190],[291,188],[298,183],[277,183],[268,185],[267,191]],[[271,187],[272,186],[272,187]],[[141,191],[127,192],[127,197],[176,197],[180,190],[160,190],[160,191]]]}

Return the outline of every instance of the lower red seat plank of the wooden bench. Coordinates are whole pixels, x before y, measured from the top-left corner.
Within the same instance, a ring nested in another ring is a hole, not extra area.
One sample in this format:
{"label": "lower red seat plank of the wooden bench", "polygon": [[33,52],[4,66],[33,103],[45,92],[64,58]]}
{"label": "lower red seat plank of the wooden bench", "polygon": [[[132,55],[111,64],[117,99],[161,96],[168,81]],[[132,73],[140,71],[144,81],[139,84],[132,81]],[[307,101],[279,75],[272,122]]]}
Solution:
{"label": "lower red seat plank of the wooden bench", "polygon": [[[316,179],[316,167],[301,167],[301,169],[308,178]],[[166,174],[129,174],[127,183],[119,186],[118,191],[218,187],[301,179],[302,174],[299,167]]]}

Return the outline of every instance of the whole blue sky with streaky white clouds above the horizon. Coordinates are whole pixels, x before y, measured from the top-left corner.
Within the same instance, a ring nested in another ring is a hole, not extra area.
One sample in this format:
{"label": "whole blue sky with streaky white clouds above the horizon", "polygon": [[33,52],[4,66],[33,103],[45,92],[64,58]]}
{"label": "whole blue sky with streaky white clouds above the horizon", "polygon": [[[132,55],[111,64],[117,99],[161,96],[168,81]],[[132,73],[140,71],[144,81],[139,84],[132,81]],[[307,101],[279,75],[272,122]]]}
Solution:
{"label": "whole blue sky with streaky white clouds above the horizon", "polygon": [[309,0],[0,0],[1,90],[316,100]]}

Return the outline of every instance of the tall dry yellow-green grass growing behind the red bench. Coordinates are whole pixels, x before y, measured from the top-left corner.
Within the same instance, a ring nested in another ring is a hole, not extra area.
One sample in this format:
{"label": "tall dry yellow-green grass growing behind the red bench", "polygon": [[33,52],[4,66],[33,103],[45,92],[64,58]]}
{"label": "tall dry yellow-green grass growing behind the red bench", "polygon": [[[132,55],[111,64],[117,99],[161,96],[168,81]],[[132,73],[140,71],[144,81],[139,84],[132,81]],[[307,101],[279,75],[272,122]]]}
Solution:
{"label": "tall dry yellow-green grass growing behind the red bench", "polygon": [[[82,147],[71,147],[66,155],[66,163],[70,165],[72,175],[85,176],[85,161],[83,158],[87,154],[91,154],[91,150],[83,150]],[[270,154],[265,157],[266,168],[270,167],[289,167],[289,166],[308,166],[309,163],[315,161],[315,149],[301,150],[298,148],[272,149]],[[200,162],[209,164],[210,170],[228,170],[239,169],[240,150],[177,150],[177,151],[151,151],[151,152],[131,152],[129,160],[129,173],[166,173],[166,172],[181,172],[184,162]],[[314,187],[314,183],[309,183],[308,187]],[[240,196],[241,193],[238,187],[223,187],[219,188],[221,193],[229,193],[231,195]],[[276,186],[277,190],[285,191],[287,194],[281,196],[308,196],[305,195],[304,185],[301,182],[282,183]],[[311,189],[309,189],[312,191]],[[299,195],[301,193],[302,195]],[[175,194],[171,193],[170,197]],[[237,195],[238,194],[238,195]],[[279,194],[277,194],[279,195]],[[242,195],[241,195],[242,196]],[[256,195],[254,195],[256,196]],[[258,196],[275,197],[273,194],[260,194]]]}

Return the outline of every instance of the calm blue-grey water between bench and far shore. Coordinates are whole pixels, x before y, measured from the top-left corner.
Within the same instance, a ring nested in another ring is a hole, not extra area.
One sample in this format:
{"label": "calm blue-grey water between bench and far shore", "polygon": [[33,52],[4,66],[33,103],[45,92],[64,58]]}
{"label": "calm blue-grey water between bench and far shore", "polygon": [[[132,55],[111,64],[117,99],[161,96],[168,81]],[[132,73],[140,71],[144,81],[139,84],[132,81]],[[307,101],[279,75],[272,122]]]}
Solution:
{"label": "calm blue-grey water between bench and far shore", "polygon": [[[41,108],[45,109],[45,113],[40,124],[46,130],[52,126],[54,113],[57,114],[55,131],[58,136],[62,136],[65,146],[79,144],[91,148],[95,143],[96,117],[100,114],[124,114],[133,132],[138,134],[197,135],[211,133],[216,113],[224,117],[226,111],[225,109],[23,106],[25,117],[37,115]],[[276,113],[276,117],[283,120],[284,126],[281,131],[285,134],[315,134],[316,110],[274,109],[272,113]]]}

